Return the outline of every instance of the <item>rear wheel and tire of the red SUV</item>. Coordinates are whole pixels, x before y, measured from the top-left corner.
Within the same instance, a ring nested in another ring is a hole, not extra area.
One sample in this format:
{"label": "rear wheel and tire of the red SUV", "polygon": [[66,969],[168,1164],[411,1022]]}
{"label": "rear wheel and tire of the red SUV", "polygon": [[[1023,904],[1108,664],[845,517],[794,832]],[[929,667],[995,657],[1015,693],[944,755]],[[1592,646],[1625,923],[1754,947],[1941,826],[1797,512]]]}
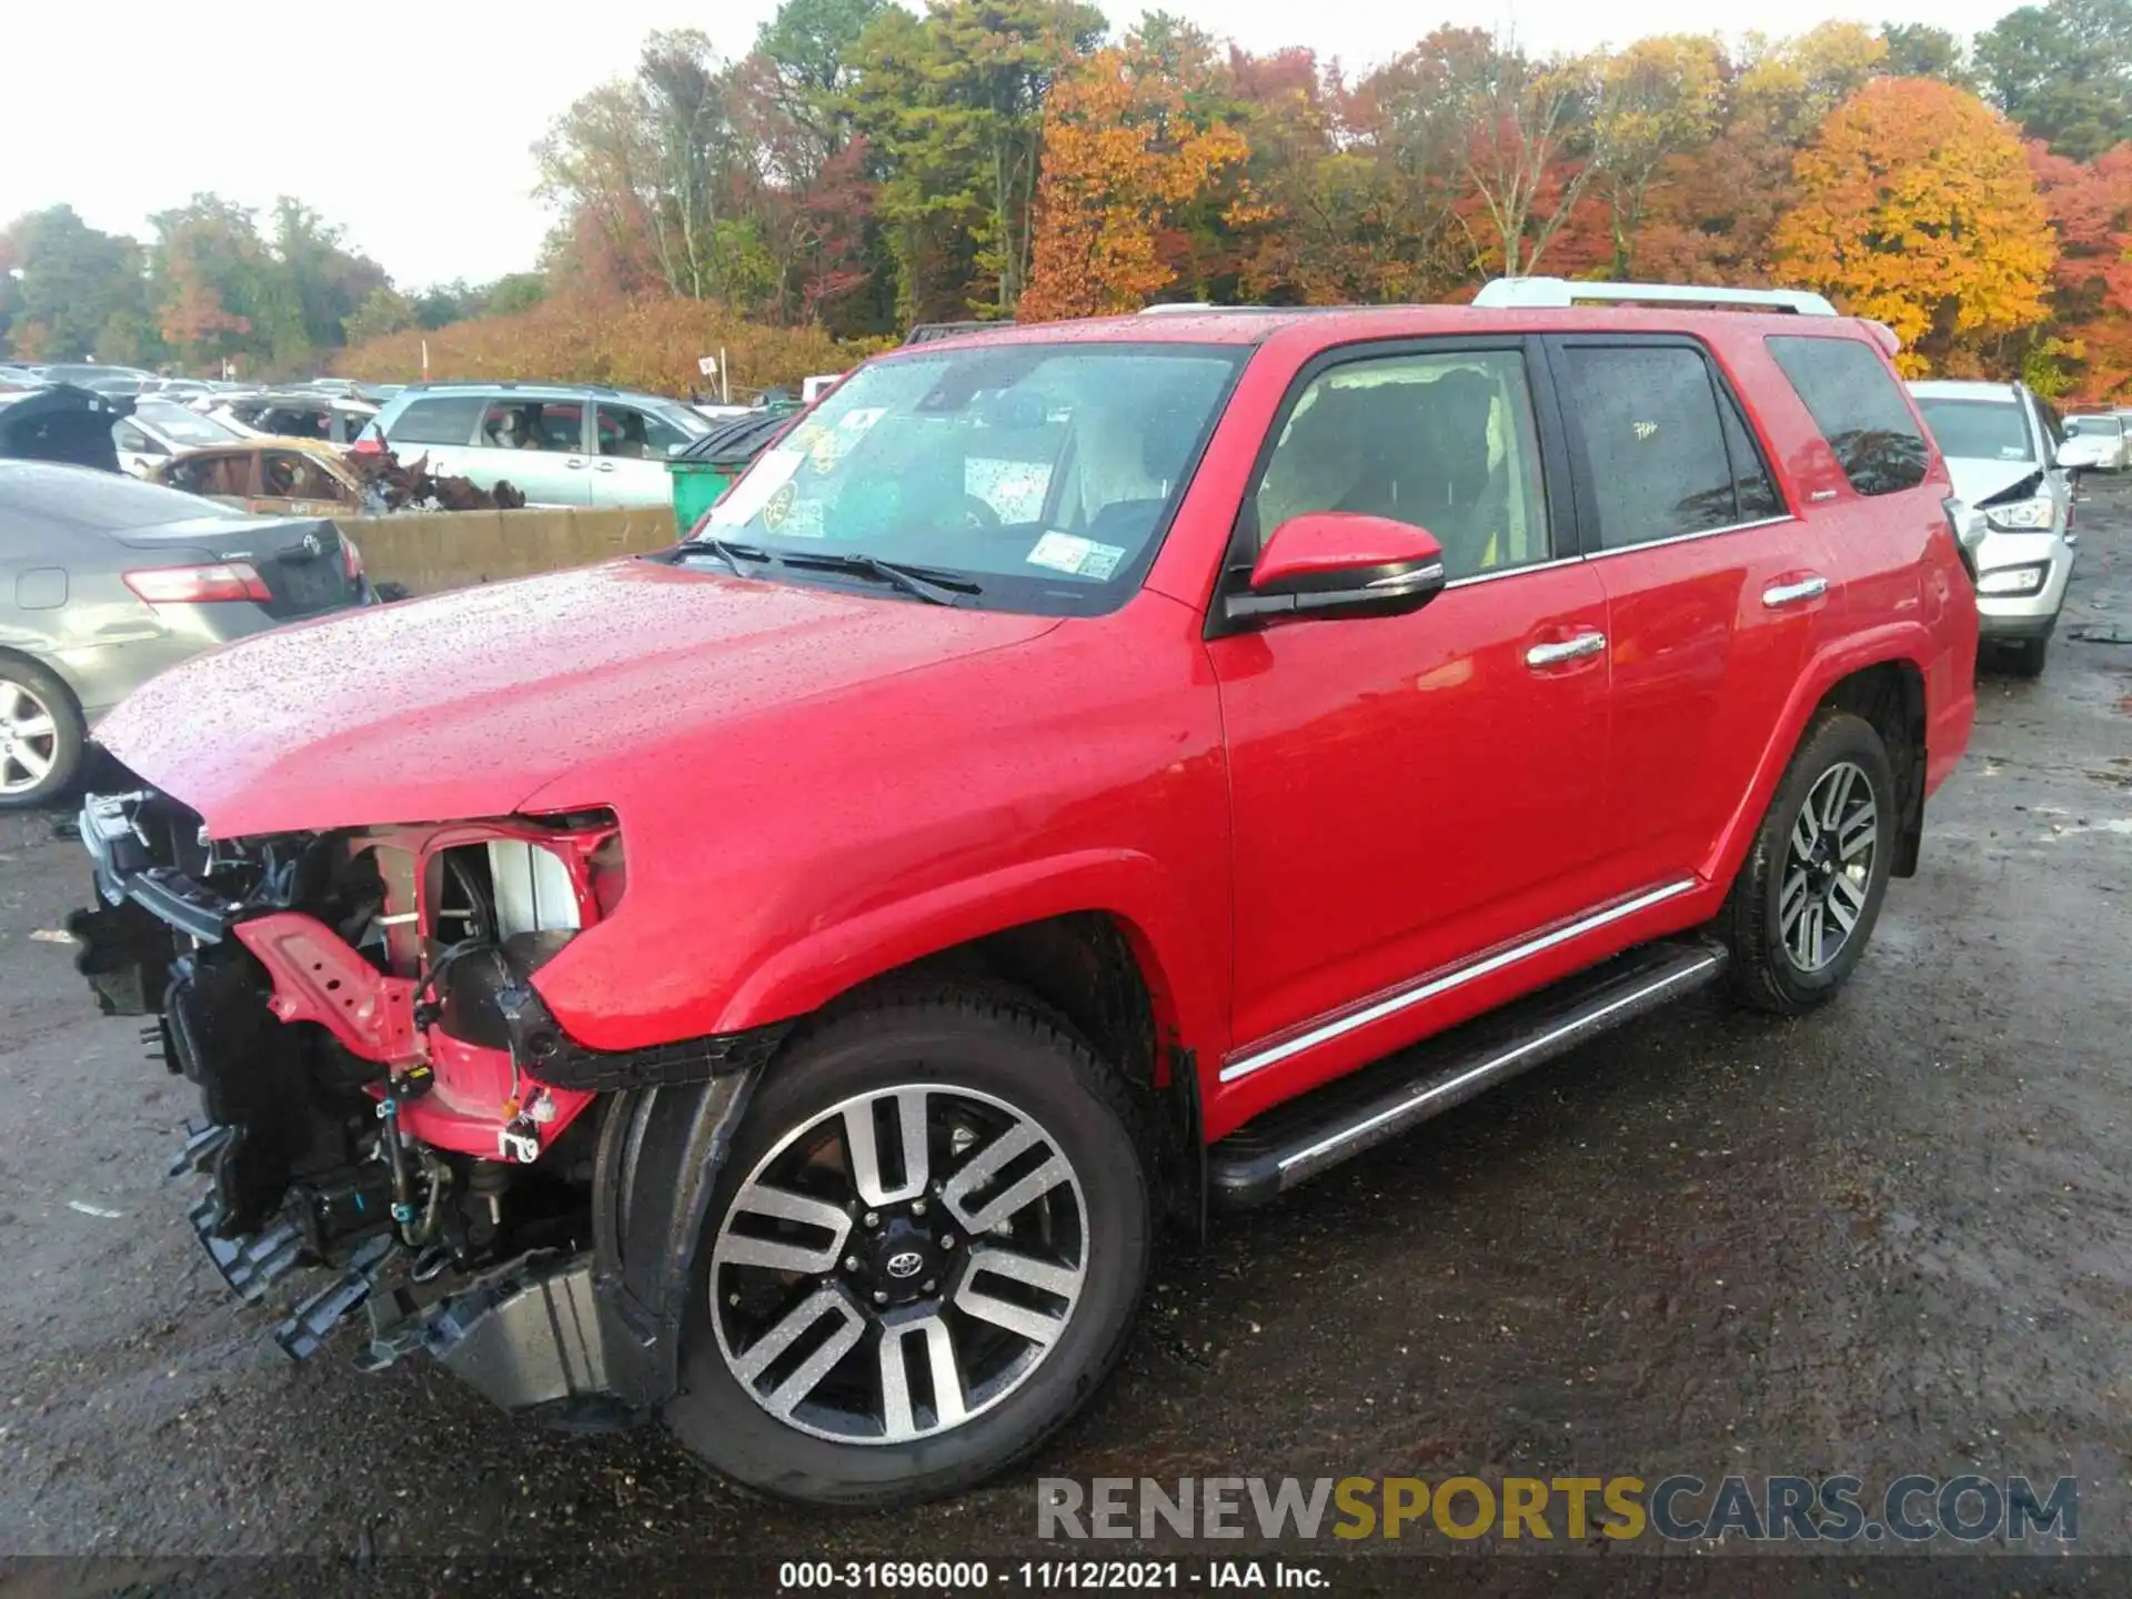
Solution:
{"label": "rear wheel and tire of the red SUV", "polygon": [[1880,919],[1900,814],[1874,725],[1819,712],[1718,912],[1733,998],[1797,1017],[1842,987]]}

